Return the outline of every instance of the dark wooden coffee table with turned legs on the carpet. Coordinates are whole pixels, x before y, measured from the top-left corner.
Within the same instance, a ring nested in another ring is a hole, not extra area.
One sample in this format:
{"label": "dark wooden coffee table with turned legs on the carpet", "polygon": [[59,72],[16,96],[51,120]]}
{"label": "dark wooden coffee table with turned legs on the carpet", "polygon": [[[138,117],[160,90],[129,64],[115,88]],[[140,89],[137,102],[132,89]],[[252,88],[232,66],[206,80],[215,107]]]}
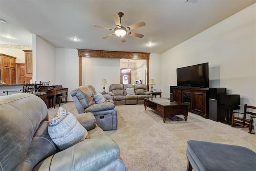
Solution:
{"label": "dark wooden coffee table with turned legs on the carpet", "polygon": [[164,123],[166,121],[165,118],[171,115],[184,115],[185,121],[188,119],[188,105],[185,103],[164,98],[144,98],[144,107],[145,110],[149,107],[162,116]]}

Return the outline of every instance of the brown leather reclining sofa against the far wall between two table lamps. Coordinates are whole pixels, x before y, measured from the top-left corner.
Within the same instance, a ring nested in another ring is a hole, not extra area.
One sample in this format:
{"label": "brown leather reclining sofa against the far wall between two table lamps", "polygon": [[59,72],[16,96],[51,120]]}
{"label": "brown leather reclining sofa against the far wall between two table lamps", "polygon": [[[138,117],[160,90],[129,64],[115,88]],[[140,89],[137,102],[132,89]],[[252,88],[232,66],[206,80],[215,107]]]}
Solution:
{"label": "brown leather reclining sofa against the far wall between two table lamps", "polygon": [[[132,88],[134,95],[128,95],[126,89]],[[145,84],[111,84],[108,94],[115,105],[144,104],[144,98],[153,97]]]}

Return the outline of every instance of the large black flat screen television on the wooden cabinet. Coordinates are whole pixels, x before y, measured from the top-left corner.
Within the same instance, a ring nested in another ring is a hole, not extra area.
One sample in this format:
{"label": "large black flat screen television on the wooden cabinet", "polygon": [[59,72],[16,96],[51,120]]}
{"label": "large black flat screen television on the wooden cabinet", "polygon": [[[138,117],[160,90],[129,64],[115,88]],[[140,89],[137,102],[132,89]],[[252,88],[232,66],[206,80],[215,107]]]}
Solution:
{"label": "large black flat screen television on the wooden cabinet", "polygon": [[207,63],[177,68],[178,87],[209,87],[209,65]]}

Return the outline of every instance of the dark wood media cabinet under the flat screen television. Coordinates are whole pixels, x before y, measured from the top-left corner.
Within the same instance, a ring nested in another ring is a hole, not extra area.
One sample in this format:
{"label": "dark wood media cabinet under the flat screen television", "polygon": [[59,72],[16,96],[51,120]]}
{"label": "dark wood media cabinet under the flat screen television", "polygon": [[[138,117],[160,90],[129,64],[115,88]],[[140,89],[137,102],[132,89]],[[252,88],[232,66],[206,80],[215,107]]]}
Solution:
{"label": "dark wood media cabinet under the flat screen television", "polygon": [[188,111],[209,118],[209,90],[208,89],[186,89],[173,88],[173,100],[186,103]]}

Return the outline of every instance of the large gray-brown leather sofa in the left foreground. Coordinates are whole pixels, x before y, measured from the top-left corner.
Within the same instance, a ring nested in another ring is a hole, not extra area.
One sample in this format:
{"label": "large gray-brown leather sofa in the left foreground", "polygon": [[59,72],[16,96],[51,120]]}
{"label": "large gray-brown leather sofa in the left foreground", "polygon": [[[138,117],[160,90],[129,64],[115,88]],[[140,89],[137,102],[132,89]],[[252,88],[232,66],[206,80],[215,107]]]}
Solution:
{"label": "large gray-brown leather sofa in the left foreground", "polygon": [[86,139],[58,149],[47,128],[48,109],[29,93],[0,97],[0,170],[126,170],[118,145],[96,125],[92,113],[77,115]]}

